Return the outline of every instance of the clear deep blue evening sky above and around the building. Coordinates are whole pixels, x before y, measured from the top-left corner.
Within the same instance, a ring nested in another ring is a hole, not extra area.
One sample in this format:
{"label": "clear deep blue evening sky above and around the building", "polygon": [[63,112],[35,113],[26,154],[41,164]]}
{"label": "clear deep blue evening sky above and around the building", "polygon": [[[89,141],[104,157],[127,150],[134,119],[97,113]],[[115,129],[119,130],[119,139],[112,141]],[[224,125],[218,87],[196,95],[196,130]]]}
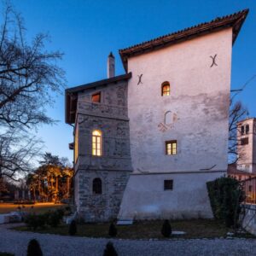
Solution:
{"label": "clear deep blue evening sky above and around the building", "polygon": [[[60,65],[67,73],[67,87],[105,79],[110,51],[116,56],[116,74],[125,73],[118,49],[247,8],[250,13],[233,47],[232,88],[240,88],[256,74],[255,0],[13,0],[12,3],[23,15],[28,40],[38,32],[49,32],[51,43],[47,47],[65,53]],[[256,79],[239,98],[250,116],[256,116]],[[73,130],[64,122],[64,96],[56,97],[48,114],[59,123],[38,130],[38,136],[45,142],[44,150],[72,160],[73,152],[67,144],[73,140]]]}

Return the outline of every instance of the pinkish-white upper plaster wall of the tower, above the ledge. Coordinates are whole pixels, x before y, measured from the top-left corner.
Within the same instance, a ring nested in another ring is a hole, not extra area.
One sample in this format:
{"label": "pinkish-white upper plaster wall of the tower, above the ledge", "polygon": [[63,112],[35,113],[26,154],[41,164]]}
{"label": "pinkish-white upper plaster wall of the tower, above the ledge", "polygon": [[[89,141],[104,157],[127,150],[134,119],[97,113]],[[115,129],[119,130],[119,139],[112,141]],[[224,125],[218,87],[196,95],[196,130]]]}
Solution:
{"label": "pinkish-white upper plaster wall of the tower, above the ledge", "polygon": [[[212,170],[227,170],[231,48],[228,28],[128,59],[135,173],[199,171],[212,166]],[[212,66],[214,55],[217,65]],[[171,84],[170,96],[161,96],[165,81]],[[177,140],[176,155],[165,154],[169,140]]]}

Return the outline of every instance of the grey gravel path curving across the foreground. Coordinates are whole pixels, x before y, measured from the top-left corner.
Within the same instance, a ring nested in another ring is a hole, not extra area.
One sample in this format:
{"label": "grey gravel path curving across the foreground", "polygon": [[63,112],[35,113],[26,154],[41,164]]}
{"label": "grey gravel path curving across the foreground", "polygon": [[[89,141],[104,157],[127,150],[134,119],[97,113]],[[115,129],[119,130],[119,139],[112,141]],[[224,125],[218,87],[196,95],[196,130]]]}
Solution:
{"label": "grey gravel path curving across the foreground", "polygon": [[[7,230],[0,225],[0,252],[26,255],[27,243],[36,238],[44,256],[102,256],[109,239],[57,236],[32,232]],[[113,239],[119,256],[165,256],[165,255],[256,255],[256,240],[253,239],[191,239],[172,241],[132,241]]]}

